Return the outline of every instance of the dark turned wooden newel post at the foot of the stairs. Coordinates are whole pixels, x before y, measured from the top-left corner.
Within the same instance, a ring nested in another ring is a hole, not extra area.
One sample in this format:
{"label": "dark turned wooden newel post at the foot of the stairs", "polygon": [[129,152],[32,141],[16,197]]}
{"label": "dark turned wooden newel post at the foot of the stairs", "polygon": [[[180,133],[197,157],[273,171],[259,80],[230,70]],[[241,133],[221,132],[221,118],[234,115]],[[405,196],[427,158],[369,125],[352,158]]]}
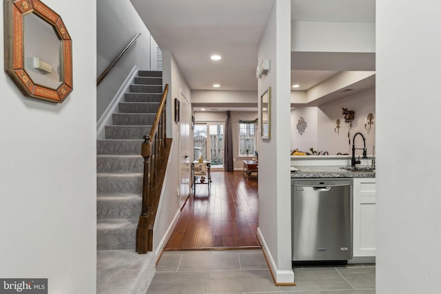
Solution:
{"label": "dark turned wooden newel post at the foot of the stairs", "polygon": [[152,156],[152,145],[150,136],[144,136],[144,142],[141,145],[141,156],[144,158],[144,177],[143,177],[143,200],[141,215],[139,216],[138,227],[136,228],[136,252],[140,254],[147,253],[148,250],[148,216],[149,216],[149,198],[150,198],[150,157]]}

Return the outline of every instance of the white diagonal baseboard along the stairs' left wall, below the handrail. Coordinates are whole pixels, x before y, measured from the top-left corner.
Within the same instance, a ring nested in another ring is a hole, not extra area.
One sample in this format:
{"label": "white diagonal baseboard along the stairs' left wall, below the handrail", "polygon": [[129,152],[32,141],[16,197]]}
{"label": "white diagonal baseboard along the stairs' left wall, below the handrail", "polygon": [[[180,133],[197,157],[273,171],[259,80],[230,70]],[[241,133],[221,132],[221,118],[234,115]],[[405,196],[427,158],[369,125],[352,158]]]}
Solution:
{"label": "white diagonal baseboard along the stairs' left wall, below the handrail", "polygon": [[138,71],[139,67],[135,65],[130,71],[130,74],[127,76],[127,78],[125,78],[123,85],[121,85],[118,92],[116,92],[115,96],[113,96],[112,101],[110,101],[109,105],[107,106],[99,120],[96,122],[96,138],[103,139],[105,137],[103,132],[104,127],[105,125],[112,124],[112,114],[114,113],[116,107],[118,107],[118,103],[124,97],[125,92],[127,92],[127,89],[130,87],[130,83],[132,83],[133,78],[136,76]]}

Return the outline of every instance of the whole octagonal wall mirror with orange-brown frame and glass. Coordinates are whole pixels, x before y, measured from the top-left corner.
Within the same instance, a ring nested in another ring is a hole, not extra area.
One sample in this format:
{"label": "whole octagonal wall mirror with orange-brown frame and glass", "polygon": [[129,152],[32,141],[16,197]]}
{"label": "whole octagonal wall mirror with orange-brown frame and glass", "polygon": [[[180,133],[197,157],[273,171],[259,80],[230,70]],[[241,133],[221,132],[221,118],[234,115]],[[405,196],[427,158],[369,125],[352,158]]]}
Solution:
{"label": "whole octagonal wall mirror with orange-brown frame and glass", "polygon": [[4,0],[5,71],[32,98],[61,103],[72,92],[72,40],[39,0]]}

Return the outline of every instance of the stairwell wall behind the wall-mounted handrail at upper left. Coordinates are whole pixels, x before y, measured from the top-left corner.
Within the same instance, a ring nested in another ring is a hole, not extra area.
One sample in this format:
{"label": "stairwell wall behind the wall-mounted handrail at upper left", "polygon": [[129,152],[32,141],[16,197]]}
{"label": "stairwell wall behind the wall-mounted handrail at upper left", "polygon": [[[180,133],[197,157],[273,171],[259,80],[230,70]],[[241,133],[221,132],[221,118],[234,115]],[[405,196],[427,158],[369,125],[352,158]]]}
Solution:
{"label": "stairwell wall behind the wall-mounted handrail at upper left", "polygon": [[130,1],[96,0],[96,7],[96,77],[141,32],[136,43],[97,88],[96,117],[100,118],[135,65],[141,70],[150,70],[151,36]]}

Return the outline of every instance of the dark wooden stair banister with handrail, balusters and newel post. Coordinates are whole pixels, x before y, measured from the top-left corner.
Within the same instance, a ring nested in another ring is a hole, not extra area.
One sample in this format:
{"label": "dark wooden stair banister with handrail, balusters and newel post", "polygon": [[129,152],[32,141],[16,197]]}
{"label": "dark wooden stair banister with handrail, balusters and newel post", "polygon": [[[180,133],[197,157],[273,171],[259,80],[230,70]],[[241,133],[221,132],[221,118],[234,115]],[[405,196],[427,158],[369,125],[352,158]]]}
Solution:
{"label": "dark wooden stair banister with handrail, balusters and newel post", "polygon": [[[144,158],[143,200],[138,227],[136,228],[136,252],[147,253],[153,250],[153,225],[156,209],[161,195],[166,147],[165,101],[169,85],[165,85],[161,103],[154,118],[150,134],[144,136],[141,156]],[[168,156],[168,154],[167,154]]]}

